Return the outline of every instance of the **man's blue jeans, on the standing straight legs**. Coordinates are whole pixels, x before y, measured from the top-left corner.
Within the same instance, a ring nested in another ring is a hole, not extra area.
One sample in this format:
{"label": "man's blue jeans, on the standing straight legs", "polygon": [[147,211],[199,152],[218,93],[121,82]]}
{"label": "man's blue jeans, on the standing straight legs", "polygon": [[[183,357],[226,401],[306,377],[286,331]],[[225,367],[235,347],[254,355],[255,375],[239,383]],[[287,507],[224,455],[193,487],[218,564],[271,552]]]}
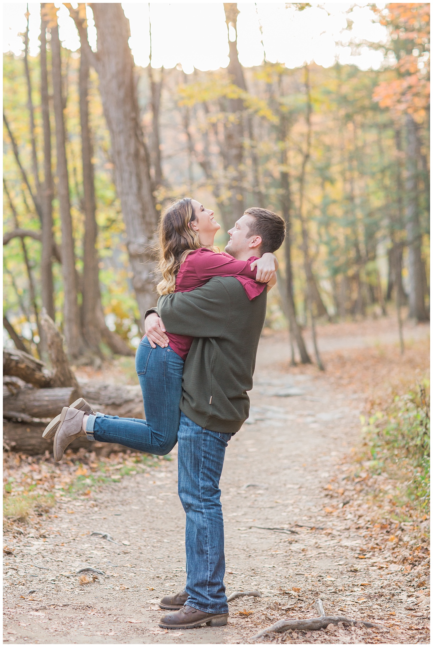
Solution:
{"label": "man's blue jeans, on the standing straight legs", "polygon": [[178,492],[186,512],[186,591],[189,606],[227,613],[223,583],[224,522],[220,476],[231,433],[199,427],[184,413],[178,431]]}

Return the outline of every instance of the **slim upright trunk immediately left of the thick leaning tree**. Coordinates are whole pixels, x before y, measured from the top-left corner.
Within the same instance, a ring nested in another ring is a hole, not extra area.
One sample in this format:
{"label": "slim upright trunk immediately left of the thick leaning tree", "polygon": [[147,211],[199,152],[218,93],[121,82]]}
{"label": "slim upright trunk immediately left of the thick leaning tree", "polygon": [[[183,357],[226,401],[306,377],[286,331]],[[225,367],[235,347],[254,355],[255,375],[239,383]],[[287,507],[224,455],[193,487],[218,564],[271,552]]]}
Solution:
{"label": "slim upright trunk immediately left of the thick leaning tree", "polygon": [[94,169],[92,164],[93,146],[89,127],[89,60],[81,56],[79,66],[79,120],[81,124],[81,159],[83,163],[83,193],[85,212],[85,233],[83,241],[83,307],[81,318],[83,336],[90,350],[100,355],[101,333],[96,311],[100,301],[98,254],[96,251],[96,203]]}

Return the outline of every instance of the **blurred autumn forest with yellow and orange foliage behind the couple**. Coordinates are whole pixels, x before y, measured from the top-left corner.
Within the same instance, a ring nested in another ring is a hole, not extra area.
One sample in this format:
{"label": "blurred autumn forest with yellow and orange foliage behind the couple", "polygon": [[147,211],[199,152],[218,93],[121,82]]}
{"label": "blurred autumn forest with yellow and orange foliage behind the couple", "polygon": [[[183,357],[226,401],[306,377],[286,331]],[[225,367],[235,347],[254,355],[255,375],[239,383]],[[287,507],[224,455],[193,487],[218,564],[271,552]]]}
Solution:
{"label": "blurred autumn forest with yellow and orange foliage behind the couple", "polygon": [[385,52],[378,71],[289,69],[265,51],[242,67],[226,3],[229,65],[192,74],[135,66],[120,3],[66,6],[80,50],[43,3],[40,54],[27,31],[4,57],[5,345],[46,360],[45,308],[74,364],[133,356],[156,302],[158,218],[184,195],[215,209],[221,249],[248,206],[286,219],[266,325],[289,327],[293,362],[314,359],[317,320],[428,320],[428,3],[374,8],[388,39],[362,44]]}

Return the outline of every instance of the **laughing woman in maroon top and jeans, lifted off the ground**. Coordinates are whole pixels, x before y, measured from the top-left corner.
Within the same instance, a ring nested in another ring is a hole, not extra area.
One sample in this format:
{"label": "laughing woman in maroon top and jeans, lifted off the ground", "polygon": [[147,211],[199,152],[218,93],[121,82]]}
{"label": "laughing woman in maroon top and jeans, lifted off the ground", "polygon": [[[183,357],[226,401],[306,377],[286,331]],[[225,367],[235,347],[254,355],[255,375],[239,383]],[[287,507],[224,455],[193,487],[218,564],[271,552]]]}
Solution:
{"label": "laughing woman in maroon top and jeans, lifted off the ground", "polygon": [[[214,212],[190,198],[170,206],[159,228],[159,294],[187,292],[213,276],[234,276],[252,300],[270,280],[275,285],[277,259],[273,254],[237,261],[216,252],[213,241],[220,225]],[[268,286],[269,289],[269,286]],[[79,399],[64,407],[45,429],[54,435],[54,459],[61,461],[67,446],[79,436],[103,443],[119,443],[147,454],[169,454],[176,444],[180,420],[184,360],[192,337],[167,333],[169,344],[153,347],[144,336],[136,353],[136,371],[143,392],[145,420],[95,413]]]}

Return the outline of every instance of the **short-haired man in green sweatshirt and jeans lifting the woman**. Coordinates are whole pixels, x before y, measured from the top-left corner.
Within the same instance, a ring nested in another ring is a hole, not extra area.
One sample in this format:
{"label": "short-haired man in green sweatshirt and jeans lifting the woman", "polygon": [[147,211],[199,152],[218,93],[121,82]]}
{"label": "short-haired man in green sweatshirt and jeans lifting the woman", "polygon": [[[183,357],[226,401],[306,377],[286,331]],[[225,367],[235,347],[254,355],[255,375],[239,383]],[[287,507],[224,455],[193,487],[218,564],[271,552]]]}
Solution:
{"label": "short-haired man in green sweatshirt and jeans lifting the woman", "polygon": [[[238,260],[275,252],[285,235],[283,219],[250,208],[229,230],[226,252]],[[173,609],[160,620],[167,629],[227,624],[223,583],[224,523],[219,481],[227,442],[249,414],[247,391],[266,316],[266,291],[249,301],[233,277],[213,278],[191,292],[174,292],[145,314],[152,343],[164,331],[195,337],[185,360],[178,431],[178,492],[186,513],[185,591],[162,598]],[[163,323],[164,322],[164,323]]]}

